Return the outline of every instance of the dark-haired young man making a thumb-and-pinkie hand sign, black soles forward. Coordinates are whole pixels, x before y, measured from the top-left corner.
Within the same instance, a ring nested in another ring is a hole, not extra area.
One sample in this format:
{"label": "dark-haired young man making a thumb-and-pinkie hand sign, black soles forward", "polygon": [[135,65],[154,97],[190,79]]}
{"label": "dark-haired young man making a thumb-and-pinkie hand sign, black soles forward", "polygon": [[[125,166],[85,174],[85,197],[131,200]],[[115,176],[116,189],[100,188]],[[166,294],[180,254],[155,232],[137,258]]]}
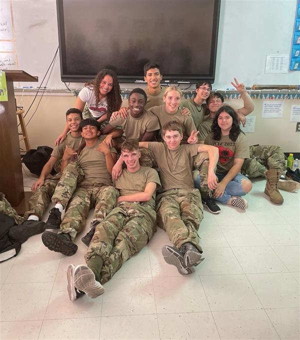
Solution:
{"label": "dark-haired young man making a thumb-and-pinkie hand sign, black soles forward", "polygon": [[[77,250],[77,245],[72,241],[85,226],[89,210],[95,207],[92,228],[114,207],[117,197],[117,191],[111,186],[116,150],[99,141],[99,123],[96,120],[82,120],[80,130],[85,147],[77,160],[64,169],[52,196],[55,206],[46,222],[46,226],[59,227],[59,231],[57,234],[45,231],[41,237],[48,249],[67,256]],[[64,165],[62,163],[62,167]],[[65,207],[67,209],[61,222],[61,212]]]}

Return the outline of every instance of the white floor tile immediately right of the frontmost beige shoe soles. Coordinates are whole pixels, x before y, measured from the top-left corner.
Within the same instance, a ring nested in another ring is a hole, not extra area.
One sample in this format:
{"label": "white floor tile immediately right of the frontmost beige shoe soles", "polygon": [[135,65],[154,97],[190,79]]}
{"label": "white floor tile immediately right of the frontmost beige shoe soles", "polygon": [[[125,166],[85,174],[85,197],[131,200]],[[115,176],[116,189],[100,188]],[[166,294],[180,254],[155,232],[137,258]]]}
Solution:
{"label": "white floor tile immediately right of the frontmost beige shoe soles", "polygon": [[104,289],[102,316],[156,313],[151,278],[110,280]]}

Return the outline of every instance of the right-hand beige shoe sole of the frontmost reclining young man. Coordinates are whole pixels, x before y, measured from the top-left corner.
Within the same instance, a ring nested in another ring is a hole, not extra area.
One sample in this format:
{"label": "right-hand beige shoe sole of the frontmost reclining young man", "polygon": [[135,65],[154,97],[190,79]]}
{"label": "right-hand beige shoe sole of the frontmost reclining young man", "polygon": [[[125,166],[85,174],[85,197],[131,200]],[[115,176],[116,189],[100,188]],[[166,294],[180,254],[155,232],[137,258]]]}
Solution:
{"label": "right-hand beige shoe sole of the frontmost reclining young man", "polygon": [[74,286],[94,299],[104,293],[103,286],[95,280],[95,275],[87,266],[79,265],[73,273]]}

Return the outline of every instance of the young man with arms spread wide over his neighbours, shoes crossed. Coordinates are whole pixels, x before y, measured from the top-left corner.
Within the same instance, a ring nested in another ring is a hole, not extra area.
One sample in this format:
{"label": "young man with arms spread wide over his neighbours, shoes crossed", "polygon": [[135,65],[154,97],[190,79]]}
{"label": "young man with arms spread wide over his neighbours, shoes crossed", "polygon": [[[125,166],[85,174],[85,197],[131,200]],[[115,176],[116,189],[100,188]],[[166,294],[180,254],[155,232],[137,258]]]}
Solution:
{"label": "young man with arms spread wide over his neighbours, shoes crossed", "polygon": [[[204,153],[209,158],[206,174],[207,186],[214,189],[217,179],[214,168],[218,161],[218,149],[202,144],[180,144],[183,134],[177,121],[169,121],[162,128],[164,143],[140,142],[139,147],[147,148],[154,154],[159,168],[161,193],[156,198],[158,225],[167,232],[175,247],[164,246],[164,260],[176,266],[182,275],[190,274],[192,266],[202,260],[197,230],[203,218],[200,193],[192,180],[193,158]],[[206,157],[206,156],[205,156]]]}

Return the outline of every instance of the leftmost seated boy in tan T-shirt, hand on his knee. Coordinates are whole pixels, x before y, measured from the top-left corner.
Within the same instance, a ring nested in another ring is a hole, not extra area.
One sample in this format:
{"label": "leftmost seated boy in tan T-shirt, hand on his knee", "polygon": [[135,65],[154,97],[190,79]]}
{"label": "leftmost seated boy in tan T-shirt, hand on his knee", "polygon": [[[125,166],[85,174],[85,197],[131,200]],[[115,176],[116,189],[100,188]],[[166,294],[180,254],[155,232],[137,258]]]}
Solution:
{"label": "leftmost seated boy in tan T-shirt, hand on his knee", "polygon": [[[76,108],[70,108],[66,111],[65,117],[70,133],[67,134],[62,143],[54,147],[49,160],[41,170],[38,180],[33,183],[31,187],[33,195],[29,200],[29,210],[24,214],[26,221],[10,230],[10,237],[13,239],[28,238],[43,232],[45,228],[44,222],[40,220],[51,202],[51,196],[58,183],[61,161],[65,157],[66,150],[75,153],[82,141],[79,129],[79,124],[82,120],[81,111]],[[50,175],[53,170],[57,175]]]}

